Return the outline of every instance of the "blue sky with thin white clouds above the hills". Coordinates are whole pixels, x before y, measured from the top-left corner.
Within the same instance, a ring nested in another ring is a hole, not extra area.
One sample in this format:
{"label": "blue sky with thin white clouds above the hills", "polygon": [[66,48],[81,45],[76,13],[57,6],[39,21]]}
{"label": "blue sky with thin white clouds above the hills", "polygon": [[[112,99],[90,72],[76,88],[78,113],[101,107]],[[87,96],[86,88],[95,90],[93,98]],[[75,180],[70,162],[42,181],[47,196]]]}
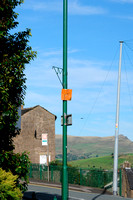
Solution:
{"label": "blue sky with thin white clouds above the hills", "polygon": [[[63,0],[25,0],[19,26],[31,28],[37,58],[26,65],[25,108],[40,105],[57,116],[62,134]],[[119,41],[122,49],[119,134],[133,141],[133,0],[68,0],[68,135],[115,135]]]}

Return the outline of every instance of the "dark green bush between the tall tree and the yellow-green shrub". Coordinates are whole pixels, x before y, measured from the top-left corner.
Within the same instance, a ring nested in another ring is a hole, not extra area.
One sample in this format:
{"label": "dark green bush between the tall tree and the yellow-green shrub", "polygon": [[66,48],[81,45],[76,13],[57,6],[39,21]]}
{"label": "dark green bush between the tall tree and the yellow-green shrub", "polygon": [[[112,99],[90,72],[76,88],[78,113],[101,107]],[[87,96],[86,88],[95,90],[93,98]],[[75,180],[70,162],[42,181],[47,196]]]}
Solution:
{"label": "dark green bush between the tall tree and the yellow-green shrub", "polygon": [[27,190],[29,182],[30,160],[26,152],[15,154],[13,151],[0,154],[0,167],[13,175],[17,175],[16,185],[23,192]]}

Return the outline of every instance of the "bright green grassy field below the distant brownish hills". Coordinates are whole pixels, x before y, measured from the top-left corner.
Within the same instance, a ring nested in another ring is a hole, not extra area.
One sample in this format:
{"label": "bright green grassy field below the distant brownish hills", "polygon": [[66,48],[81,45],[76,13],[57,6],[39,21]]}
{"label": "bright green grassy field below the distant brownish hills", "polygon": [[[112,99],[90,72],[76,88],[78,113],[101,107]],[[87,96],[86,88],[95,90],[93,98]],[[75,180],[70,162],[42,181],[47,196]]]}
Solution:
{"label": "bright green grassy field below the distant brownish hills", "polygon": [[[98,158],[89,158],[89,159],[83,159],[83,160],[76,160],[68,162],[68,164],[76,167],[81,168],[102,168],[102,169],[113,169],[113,161],[114,159],[112,156],[103,156]],[[133,154],[127,154],[127,155],[120,155],[118,160],[118,166],[120,167],[121,164],[123,164],[124,161],[128,161],[133,166]]]}

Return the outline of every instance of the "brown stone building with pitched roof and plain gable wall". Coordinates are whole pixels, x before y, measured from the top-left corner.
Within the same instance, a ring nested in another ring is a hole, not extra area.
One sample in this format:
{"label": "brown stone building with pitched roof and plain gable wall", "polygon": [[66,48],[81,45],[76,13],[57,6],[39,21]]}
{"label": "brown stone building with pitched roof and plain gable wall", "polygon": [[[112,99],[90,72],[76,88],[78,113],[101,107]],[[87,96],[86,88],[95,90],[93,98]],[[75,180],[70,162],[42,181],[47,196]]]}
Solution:
{"label": "brown stone building with pitched roof and plain gable wall", "polygon": [[[55,160],[56,116],[41,106],[21,109],[21,133],[14,139],[15,152],[29,152],[32,163]],[[42,145],[42,134],[47,136]],[[47,135],[46,135],[47,134]]]}

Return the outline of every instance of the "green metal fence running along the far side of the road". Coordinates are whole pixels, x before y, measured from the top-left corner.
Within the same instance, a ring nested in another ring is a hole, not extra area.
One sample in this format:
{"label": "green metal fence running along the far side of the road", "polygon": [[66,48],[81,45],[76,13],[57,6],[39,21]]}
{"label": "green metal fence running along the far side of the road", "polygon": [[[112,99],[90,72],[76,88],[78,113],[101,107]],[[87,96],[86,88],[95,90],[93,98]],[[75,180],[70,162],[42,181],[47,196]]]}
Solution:
{"label": "green metal fence running along the far side of the road", "polygon": [[[30,180],[43,180],[53,183],[62,182],[62,166],[31,164]],[[68,167],[68,183],[103,188],[113,181],[113,171],[102,169],[83,169]]]}

